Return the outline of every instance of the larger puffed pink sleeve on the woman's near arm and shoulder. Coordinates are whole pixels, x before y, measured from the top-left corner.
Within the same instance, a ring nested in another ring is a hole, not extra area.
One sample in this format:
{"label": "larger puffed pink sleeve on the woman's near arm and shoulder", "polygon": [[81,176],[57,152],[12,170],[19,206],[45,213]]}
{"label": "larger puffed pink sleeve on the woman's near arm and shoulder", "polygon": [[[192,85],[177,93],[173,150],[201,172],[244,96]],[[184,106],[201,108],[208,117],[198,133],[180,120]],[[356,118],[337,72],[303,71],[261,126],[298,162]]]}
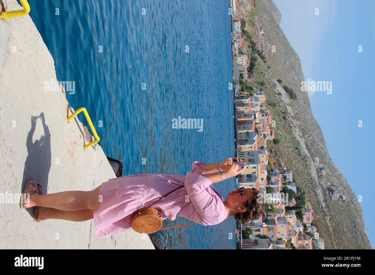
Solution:
{"label": "larger puffed pink sleeve on the woman's near arm and shoulder", "polygon": [[186,174],[186,192],[199,214],[198,217],[195,217],[195,221],[203,225],[218,224],[226,218],[221,198],[212,195],[207,190],[207,187],[211,188],[209,187],[211,184],[211,181],[202,175],[193,172]]}

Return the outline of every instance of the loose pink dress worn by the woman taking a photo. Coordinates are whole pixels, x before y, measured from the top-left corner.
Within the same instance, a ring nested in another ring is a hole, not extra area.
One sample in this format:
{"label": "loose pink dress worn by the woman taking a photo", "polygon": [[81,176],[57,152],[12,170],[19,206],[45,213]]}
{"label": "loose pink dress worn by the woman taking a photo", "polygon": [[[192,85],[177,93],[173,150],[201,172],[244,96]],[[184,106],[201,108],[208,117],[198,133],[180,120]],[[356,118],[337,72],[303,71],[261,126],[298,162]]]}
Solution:
{"label": "loose pink dress worn by the woman taking a photo", "polygon": [[162,213],[162,219],[175,220],[184,217],[203,225],[214,225],[226,219],[223,197],[203,177],[207,174],[193,162],[193,169],[183,175],[142,174],[112,178],[102,183],[99,195],[100,206],[94,212],[96,235],[106,237],[132,229],[131,214],[161,196],[184,185],[153,205]]}

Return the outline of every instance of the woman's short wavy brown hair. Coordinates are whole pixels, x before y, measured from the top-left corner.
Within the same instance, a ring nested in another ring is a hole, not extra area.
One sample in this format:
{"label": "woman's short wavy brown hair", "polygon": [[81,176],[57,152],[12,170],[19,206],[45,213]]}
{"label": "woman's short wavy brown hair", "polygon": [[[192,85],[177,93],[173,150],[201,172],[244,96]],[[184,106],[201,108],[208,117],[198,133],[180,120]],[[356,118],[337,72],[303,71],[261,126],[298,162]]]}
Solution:
{"label": "woman's short wavy brown hair", "polygon": [[234,219],[240,221],[242,224],[248,223],[249,221],[259,219],[264,214],[264,203],[263,200],[258,200],[259,190],[252,188],[253,194],[246,201],[246,211],[234,215]]}

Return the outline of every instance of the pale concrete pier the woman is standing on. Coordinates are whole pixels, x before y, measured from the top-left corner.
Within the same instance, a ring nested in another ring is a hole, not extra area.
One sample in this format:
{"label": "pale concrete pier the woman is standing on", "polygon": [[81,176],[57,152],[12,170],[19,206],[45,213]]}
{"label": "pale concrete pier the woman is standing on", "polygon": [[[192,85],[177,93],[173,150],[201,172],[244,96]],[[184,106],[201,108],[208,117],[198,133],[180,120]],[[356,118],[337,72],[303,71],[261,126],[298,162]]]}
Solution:
{"label": "pale concrete pier the woman is standing on", "polygon": [[[22,9],[16,0],[0,3]],[[98,238],[93,220],[34,223],[33,208],[20,208],[30,178],[56,193],[93,190],[115,177],[98,144],[83,147],[92,138],[78,120],[87,125],[84,114],[68,123],[74,110],[61,86],[45,91],[51,80],[57,80],[54,60],[30,16],[0,19],[0,248],[154,249],[147,235],[133,230]]]}

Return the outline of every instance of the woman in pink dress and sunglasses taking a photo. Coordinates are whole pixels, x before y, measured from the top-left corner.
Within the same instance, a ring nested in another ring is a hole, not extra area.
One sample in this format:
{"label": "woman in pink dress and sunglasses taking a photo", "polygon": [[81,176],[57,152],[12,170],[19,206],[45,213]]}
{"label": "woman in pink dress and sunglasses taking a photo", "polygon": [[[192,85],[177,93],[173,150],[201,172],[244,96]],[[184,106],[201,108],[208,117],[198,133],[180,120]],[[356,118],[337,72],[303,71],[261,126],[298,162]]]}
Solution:
{"label": "woman in pink dress and sunglasses taking a photo", "polygon": [[[242,159],[234,158],[242,162]],[[245,164],[246,162],[244,162]],[[220,173],[216,173],[220,171]],[[35,180],[28,180],[21,198],[21,208],[34,207],[34,220],[62,219],[86,221],[94,219],[99,237],[131,229],[131,214],[161,196],[184,185],[153,205],[162,219],[185,217],[203,225],[214,225],[230,216],[246,223],[258,219],[264,205],[255,188],[236,189],[226,200],[211,184],[234,177],[241,172],[230,159],[217,164],[193,162],[191,172],[183,175],[142,174],[113,178],[92,191],[65,191],[43,195]],[[30,195],[26,196],[28,192]]]}

